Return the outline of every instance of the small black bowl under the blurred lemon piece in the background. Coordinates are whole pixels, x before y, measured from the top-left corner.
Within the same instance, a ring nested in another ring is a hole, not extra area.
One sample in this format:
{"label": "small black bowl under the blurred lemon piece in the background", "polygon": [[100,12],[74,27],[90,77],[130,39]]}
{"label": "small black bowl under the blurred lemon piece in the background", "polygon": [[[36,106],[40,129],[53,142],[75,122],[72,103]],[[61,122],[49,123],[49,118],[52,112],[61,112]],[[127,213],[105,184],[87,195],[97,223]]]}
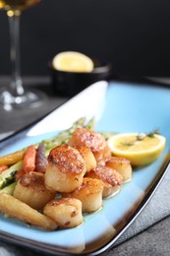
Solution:
{"label": "small black bowl under the blurred lemon piece in the background", "polygon": [[54,94],[60,96],[75,96],[95,82],[101,80],[108,81],[111,76],[111,64],[96,59],[92,60],[94,69],[90,73],[59,71],[56,70],[52,62],[50,62],[49,68]]}

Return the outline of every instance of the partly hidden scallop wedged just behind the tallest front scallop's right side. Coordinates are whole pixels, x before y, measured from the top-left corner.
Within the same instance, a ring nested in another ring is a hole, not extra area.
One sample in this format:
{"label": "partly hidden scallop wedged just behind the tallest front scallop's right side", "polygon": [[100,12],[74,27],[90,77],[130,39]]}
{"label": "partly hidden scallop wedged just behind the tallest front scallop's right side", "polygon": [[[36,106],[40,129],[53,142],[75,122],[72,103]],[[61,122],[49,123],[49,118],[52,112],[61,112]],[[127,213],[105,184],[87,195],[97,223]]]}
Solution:
{"label": "partly hidden scallop wedged just behind the tallest front scallop's right side", "polygon": [[91,152],[91,150],[86,146],[78,146],[77,150],[80,152],[81,156],[85,160],[86,172],[96,167],[96,160]]}

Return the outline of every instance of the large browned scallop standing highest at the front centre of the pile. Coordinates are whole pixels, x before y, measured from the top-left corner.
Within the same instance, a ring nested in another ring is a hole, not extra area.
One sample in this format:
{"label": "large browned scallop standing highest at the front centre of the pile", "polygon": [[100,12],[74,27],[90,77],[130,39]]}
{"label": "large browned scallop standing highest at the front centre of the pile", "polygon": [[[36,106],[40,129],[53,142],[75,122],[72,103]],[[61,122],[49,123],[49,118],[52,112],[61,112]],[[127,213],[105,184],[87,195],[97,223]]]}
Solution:
{"label": "large browned scallop standing highest at the front centre of the pile", "polygon": [[72,192],[85,175],[85,161],[79,151],[67,144],[52,149],[45,171],[45,185],[57,192]]}

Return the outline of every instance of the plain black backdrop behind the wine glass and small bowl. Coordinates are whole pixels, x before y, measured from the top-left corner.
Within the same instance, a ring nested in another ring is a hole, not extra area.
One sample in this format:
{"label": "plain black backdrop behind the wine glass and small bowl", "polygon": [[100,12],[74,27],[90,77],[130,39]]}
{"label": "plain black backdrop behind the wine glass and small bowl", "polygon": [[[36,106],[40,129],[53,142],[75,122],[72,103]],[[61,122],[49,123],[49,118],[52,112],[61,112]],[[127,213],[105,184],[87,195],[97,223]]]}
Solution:
{"label": "plain black backdrop behind the wine glass and small bowl", "polygon": [[[110,61],[119,76],[170,76],[169,0],[42,0],[21,18],[23,75],[76,50]],[[0,75],[10,73],[8,19],[0,11]]]}

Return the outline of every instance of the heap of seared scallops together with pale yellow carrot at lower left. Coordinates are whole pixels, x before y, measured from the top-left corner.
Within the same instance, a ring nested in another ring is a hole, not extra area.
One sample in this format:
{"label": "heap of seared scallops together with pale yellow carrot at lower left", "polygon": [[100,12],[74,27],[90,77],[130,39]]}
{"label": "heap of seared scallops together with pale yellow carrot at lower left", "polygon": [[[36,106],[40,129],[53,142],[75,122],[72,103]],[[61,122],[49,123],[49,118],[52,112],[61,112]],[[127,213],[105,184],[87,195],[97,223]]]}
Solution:
{"label": "heap of seared scallops together with pale yellow carrot at lower left", "polygon": [[131,162],[113,157],[100,133],[78,128],[67,144],[49,152],[45,170],[20,177],[11,200],[18,209],[11,215],[46,229],[78,226],[131,177]]}

